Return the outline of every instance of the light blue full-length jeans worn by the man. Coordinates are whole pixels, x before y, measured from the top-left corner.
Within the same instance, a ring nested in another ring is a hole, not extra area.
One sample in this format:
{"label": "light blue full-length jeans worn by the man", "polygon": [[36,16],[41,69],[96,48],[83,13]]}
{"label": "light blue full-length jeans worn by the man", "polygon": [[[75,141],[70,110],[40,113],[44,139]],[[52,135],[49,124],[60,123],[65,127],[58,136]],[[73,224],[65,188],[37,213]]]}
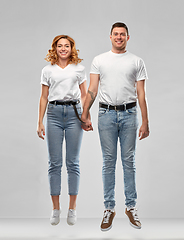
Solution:
{"label": "light blue full-length jeans worn by the man", "polygon": [[103,189],[105,208],[115,207],[115,168],[117,142],[120,140],[121,161],[124,172],[125,205],[136,205],[135,148],[137,139],[137,107],[126,111],[99,109],[98,130],[103,154]]}

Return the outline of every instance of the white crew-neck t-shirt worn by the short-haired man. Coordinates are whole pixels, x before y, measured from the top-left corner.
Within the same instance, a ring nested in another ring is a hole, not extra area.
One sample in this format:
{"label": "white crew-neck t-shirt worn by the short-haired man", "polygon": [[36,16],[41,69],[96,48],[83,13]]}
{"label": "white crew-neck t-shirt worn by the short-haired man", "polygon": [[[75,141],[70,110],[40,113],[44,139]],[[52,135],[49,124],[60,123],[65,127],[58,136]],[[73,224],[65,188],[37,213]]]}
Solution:
{"label": "white crew-neck t-shirt worn by the short-haired man", "polygon": [[109,105],[135,102],[136,82],[148,79],[143,60],[128,51],[96,56],[90,73],[100,75],[99,101]]}

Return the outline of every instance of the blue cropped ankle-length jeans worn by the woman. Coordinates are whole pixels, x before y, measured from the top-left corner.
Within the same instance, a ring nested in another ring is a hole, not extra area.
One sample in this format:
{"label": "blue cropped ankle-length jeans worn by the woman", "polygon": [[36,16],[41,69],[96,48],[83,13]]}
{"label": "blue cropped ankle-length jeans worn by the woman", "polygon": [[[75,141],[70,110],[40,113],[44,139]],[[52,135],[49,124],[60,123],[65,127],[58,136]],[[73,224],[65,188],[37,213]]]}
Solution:
{"label": "blue cropped ankle-length jeans worn by the woman", "polygon": [[[81,115],[81,104],[76,105]],[[63,165],[62,145],[66,141],[66,167],[68,173],[68,193],[77,195],[80,180],[79,152],[83,130],[72,105],[49,104],[47,110],[46,137],[49,154],[48,177],[50,194],[60,195],[61,168]]]}

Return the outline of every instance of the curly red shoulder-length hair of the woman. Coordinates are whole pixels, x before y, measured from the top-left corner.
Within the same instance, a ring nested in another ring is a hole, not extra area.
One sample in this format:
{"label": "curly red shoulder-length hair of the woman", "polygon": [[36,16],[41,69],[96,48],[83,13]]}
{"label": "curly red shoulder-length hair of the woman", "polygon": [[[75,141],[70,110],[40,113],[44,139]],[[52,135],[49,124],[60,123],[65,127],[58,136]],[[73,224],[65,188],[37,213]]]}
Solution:
{"label": "curly red shoulder-length hair of the woman", "polygon": [[68,35],[58,35],[53,39],[51,49],[48,50],[48,53],[46,55],[45,60],[47,62],[51,62],[51,65],[54,65],[58,62],[58,55],[57,55],[57,52],[56,52],[56,46],[57,46],[57,42],[61,38],[67,39],[70,42],[70,45],[71,45],[71,55],[69,57],[68,64],[74,63],[74,64],[77,65],[78,63],[80,63],[83,59],[80,59],[78,57],[79,50],[76,50],[75,41],[73,40],[73,38],[69,37]]}

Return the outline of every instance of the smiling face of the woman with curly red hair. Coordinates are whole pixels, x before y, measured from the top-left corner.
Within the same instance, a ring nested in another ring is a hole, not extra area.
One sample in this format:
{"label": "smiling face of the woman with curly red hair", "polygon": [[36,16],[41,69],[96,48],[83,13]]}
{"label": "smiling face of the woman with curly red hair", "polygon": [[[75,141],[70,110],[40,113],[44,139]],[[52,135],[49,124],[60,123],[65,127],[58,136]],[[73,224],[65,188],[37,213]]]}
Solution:
{"label": "smiling face of the woman with curly red hair", "polygon": [[57,42],[56,52],[60,59],[67,60],[71,55],[71,51],[71,44],[67,39],[61,38]]}

